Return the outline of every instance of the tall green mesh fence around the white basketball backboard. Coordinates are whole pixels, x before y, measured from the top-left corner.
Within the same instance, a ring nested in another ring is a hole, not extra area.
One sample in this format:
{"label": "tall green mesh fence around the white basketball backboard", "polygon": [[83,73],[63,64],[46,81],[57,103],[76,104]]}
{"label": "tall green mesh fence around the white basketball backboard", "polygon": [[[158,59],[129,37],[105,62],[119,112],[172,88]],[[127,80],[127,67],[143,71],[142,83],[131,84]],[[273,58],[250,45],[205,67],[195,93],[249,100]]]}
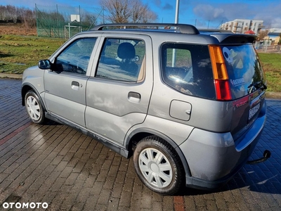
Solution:
{"label": "tall green mesh fence around the white basketball backboard", "polygon": [[69,39],[74,34],[104,23],[103,8],[40,6],[35,4],[38,37]]}

